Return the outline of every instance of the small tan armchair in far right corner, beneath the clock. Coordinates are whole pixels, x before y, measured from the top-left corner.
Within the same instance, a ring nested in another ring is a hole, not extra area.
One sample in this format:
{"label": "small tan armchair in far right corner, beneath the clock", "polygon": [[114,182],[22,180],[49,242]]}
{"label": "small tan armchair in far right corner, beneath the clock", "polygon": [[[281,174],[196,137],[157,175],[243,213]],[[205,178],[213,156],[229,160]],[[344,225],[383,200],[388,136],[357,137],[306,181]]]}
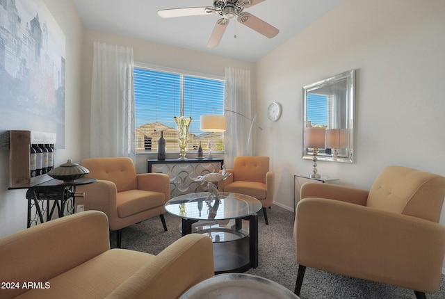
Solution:
{"label": "small tan armchair in far right corner, beneath the clock", "polygon": [[264,220],[268,225],[266,208],[273,204],[275,172],[269,170],[268,156],[236,156],[232,175],[218,182],[218,191],[250,195],[263,205]]}

